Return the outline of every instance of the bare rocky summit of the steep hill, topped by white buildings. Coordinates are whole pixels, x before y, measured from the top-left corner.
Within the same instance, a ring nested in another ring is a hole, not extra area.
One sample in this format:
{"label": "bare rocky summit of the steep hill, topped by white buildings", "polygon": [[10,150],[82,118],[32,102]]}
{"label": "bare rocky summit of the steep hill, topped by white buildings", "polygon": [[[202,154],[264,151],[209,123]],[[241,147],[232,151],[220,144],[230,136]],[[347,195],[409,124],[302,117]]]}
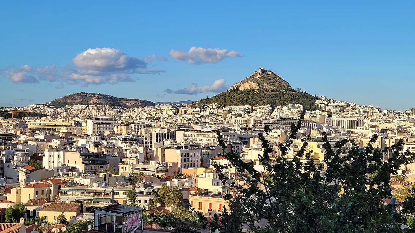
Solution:
{"label": "bare rocky summit of the steep hill, topped by white buildings", "polygon": [[273,90],[293,90],[290,84],[283,80],[280,75],[273,73],[271,70],[266,70],[263,67],[259,67],[254,71],[251,76],[248,76],[244,80],[235,83],[231,90],[258,90],[261,88],[273,89]]}

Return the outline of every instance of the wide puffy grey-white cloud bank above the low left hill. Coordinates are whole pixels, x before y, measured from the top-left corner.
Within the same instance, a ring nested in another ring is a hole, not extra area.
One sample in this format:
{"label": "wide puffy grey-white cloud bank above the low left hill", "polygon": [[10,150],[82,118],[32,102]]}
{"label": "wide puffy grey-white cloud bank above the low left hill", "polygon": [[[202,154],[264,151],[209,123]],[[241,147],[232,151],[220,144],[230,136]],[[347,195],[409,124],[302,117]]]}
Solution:
{"label": "wide puffy grey-white cloud bank above the low left hill", "polygon": [[[167,58],[155,54],[146,57],[149,62],[158,59],[165,61]],[[115,84],[120,82],[134,82],[137,78],[131,78],[128,74],[160,74],[166,70],[150,70],[147,62],[136,57],[128,56],[118,49],[95,48],[78,53],[72,59],[75,66],[57,68],[56,65],[44,68],[31,68],[22,66],[1,71],[0,75],[10,78],[14,83],[38,83],[39,80],[59,81],[56,88],[63,88],[63,83],[81,84]]]}

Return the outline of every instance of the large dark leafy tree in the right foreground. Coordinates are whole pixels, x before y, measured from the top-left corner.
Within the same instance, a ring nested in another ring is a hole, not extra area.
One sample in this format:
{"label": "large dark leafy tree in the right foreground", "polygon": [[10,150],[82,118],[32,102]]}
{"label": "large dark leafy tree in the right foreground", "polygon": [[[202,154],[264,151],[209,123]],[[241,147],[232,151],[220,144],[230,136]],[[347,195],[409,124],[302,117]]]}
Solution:
{"label": "large dark leafy tree in the right foreground", "polygon": [[[341,148],[348,140],[337,141],[332,146],[326,133],[322,133],[326,150],[323,162],[327,166],[323,171],[323,163],[314,165],[312,151],[307,152],[307,137],[303,138],[301,148],[292,159],[284,158],[303,121],[304,114],[298,124],[291,126],[288,140],[278,146],[281,157],[270,158],[273,146],[259,133],[264,148],[259,161],[264,172],[255,170],[252,162],[245,163],[235,153],[224,153],[229,164],[220,165],[212,160],[222,183],[231,184],[237,192],[233,197],[227,194],[231,199],[231,213],[222,215],[222,224],[214,222],[211,226],[227,233],[241,232],[244,224],[255,232],[413,232],[410,228],[402,230],[401,225],[407,223],[407,217],[413,216],[414,197],[407,197],[403,204],[384,204],[385,199],[392,198],[391,174],[399,175],[400,165],[415,159],[415,155],[403,151],[403,139],[381,150],[372,146],[377,140],[374,135],[364,151],[359,151],[359,145],[351,140],[348,154],[341,156]],[[266,126],[264,133],[269,131]],[[220,131],[217,131],[217,138],[220,146],[226,148]],[[382,161],[384,153],[391,158]],[[244,185],[229,180],[229,167],[235,167]],[[268,224],[255,228],[256,221]]]}

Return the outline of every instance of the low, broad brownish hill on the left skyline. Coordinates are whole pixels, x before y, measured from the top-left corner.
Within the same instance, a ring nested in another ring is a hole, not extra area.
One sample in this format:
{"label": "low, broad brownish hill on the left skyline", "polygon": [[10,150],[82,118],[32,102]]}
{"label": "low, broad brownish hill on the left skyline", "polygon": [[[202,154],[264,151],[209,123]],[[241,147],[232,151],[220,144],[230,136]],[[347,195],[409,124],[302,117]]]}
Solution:
{"label": "low, broad brownish hill on the left skyline", "polygon": [[112,106],[122,106],[122,107],[143,107],[143,106],[153,106],[154,102],[147,100],[138,100],[138,99],[127,99],[127,98],[118,98],[111,95],[96,94],[96,93],[87,93],[79,92],[70,95],[65,95],[56,100],[52,100],[46,104],[53,105],[55,107],[63,107],[65,105],[112,105]]}

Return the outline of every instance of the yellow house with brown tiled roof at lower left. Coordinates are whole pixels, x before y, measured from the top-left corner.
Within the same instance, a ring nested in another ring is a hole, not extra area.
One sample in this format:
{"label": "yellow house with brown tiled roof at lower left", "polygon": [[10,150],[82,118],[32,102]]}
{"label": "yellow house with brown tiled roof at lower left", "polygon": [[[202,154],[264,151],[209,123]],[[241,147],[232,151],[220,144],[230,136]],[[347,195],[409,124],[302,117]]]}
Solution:
{"label": "yellow house with brown tiled roof at lower left", "polygon": [[81,214],[81,205],[82,203],[52,202],[51,204],[42,207],[39,210],[38,216],[46,216],[49,223],[54,223],[54,220],[63,212],[68,222],[71,222],[73,221],[73,218]]}

